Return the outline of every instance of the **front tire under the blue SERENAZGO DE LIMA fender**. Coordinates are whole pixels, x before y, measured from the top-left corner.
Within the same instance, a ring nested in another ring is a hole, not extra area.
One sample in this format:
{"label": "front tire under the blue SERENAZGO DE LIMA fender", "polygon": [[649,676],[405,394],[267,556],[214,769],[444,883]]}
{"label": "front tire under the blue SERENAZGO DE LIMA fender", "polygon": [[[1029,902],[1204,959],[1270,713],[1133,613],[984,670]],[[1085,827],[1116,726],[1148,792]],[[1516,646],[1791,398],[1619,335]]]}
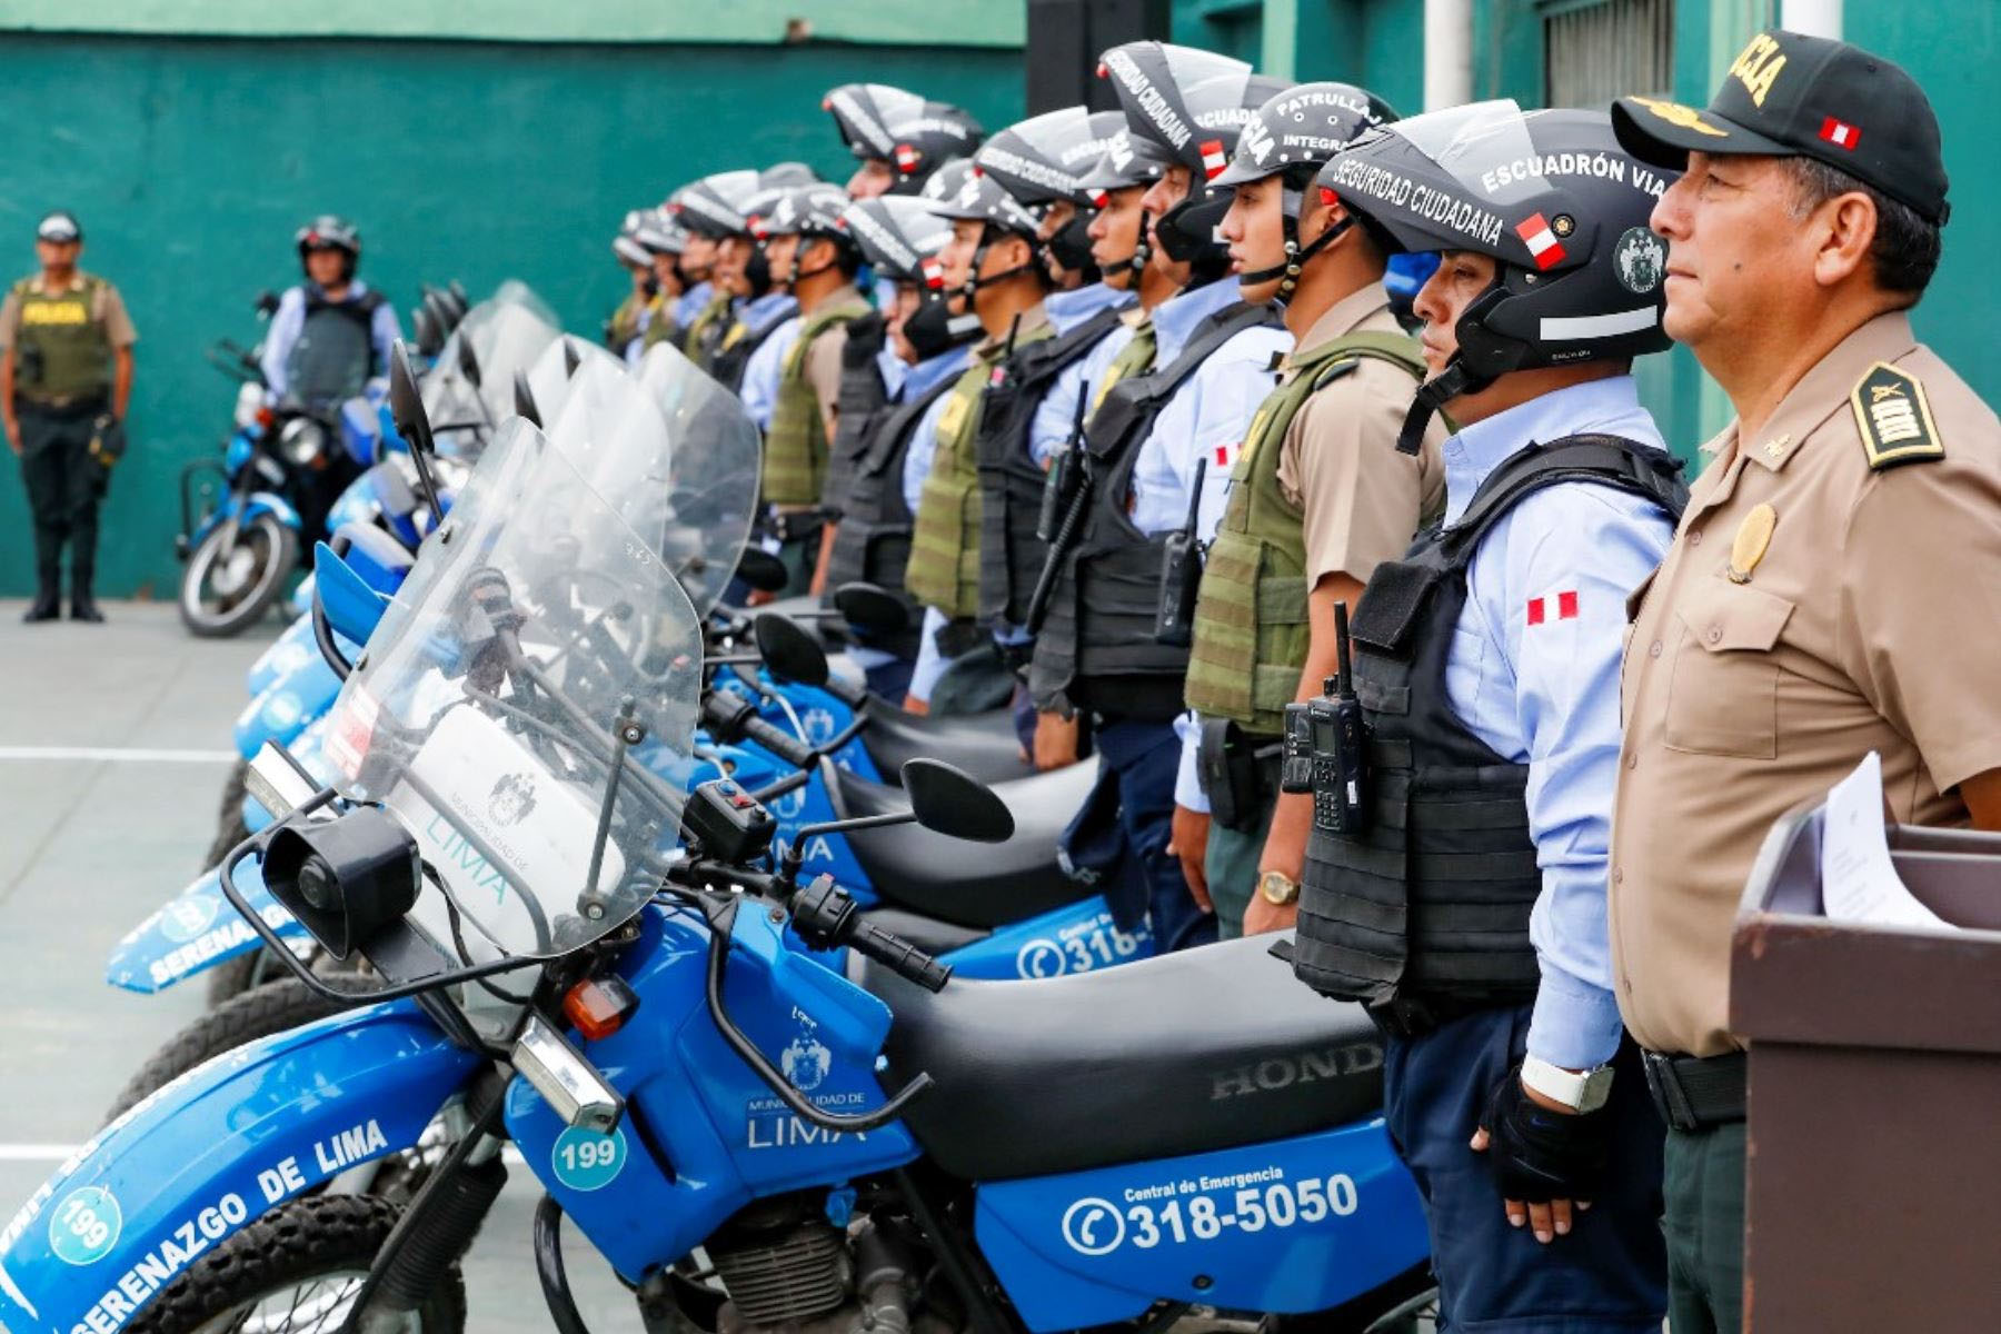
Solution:
{"label": "front tire under the blue SERENAZGO DE LIMA fender", "polygon": [[[174,1278],[130,1332],[206,1334],[246,1322],[272,1334],[344,1328],[342,1302],[360,1290],[396,1216],[394,1204],[372,1196],[286,1200]],[[276,1308],[258,1320],[264,1302]],[[466,1284],[456,1264],[402,1328],[410,1334],[466,1328]]]}

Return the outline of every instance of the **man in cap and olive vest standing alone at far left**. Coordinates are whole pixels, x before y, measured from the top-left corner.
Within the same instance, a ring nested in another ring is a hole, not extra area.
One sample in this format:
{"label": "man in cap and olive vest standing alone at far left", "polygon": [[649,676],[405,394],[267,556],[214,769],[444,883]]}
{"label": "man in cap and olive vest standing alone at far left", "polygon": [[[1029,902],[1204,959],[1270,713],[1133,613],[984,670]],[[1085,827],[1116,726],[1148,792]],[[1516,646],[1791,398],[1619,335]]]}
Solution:
{"label": "man in cap and olive vest standing alone at far left", "polygon": [[84,228],[56,210],[34,228],[42,272],[22,278],[0,304],[0,414],[20,458],[34,516],[34,602],[26,622],[62,608],[62,546],[70,546],[70,620],[100,622],[92,596],[98,502],[124,448],[138,332],[104,278],[76,268]]}

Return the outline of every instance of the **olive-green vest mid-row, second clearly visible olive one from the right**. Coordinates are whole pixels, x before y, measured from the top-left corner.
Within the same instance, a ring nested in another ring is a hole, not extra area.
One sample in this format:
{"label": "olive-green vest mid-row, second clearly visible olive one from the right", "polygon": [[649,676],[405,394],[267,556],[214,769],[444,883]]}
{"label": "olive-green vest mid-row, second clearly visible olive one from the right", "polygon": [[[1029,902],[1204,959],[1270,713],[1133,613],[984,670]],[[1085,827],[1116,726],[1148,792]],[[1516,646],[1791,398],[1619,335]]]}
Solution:
{"label": "olive-green vest mid-row, second clearly visible olive one from the right", "polygon": [[[1015,340],[1017,348],[1055,336],[1043,324]],[[996,374],[1000,346],[972,358],[944,400],[938,416],[938,448],[924,474],[924,492],[916,500],[916,526],[910,532],[910,564],[904,586],[924,606],[934,606],[952,620],[976,616],[980,610],[980,470],[978,434],[986,384]]]}

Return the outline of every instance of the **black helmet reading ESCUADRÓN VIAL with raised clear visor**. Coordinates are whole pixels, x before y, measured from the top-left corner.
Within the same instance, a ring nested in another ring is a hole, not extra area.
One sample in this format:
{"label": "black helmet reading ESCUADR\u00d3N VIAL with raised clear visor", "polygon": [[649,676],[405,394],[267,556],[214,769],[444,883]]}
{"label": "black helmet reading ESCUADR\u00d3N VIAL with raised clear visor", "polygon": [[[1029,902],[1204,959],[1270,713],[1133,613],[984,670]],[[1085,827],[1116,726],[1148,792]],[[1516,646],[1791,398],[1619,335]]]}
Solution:
{"label": "black helmet reading ESCUADR\u00d3N VIAL with raised clear visor", "polygon": [[[1673,180],[1667,176],[1665,180]],[[1667,242],[1647,218],[1663,184],[1619,146],[1607,112],[1475,102],[1383,126],[1317,184],[1393,252],[1473,250],[1495,282],[1455,332],[1459,352],[1411,406],[1415,454],[1431,414],[1511,370],[1665,352]]]}

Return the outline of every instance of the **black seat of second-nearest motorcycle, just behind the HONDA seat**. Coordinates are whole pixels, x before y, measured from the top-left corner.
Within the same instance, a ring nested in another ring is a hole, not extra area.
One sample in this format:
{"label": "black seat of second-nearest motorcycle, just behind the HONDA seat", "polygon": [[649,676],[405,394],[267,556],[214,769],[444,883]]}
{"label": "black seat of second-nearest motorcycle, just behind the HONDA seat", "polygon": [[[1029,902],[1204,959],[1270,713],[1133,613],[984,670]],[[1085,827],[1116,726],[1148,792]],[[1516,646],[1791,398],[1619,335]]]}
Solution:
{"label": "black seat of second-nearest motorcycle, just behind the HONDA seat", "polygon": [[[908,806],[902,788],[828,768],[834,812],[842,820]],[[916,824],[848,830],[844,838],[884,904],[952,926],[992,930],[1093,892],[1089,884],[1063,874],[1057,844],[1083,810],[1097,778],[1097,762],[1087,760],[992,784],[1015,816],[1015,836],[1005,844],[972,844]]]}

